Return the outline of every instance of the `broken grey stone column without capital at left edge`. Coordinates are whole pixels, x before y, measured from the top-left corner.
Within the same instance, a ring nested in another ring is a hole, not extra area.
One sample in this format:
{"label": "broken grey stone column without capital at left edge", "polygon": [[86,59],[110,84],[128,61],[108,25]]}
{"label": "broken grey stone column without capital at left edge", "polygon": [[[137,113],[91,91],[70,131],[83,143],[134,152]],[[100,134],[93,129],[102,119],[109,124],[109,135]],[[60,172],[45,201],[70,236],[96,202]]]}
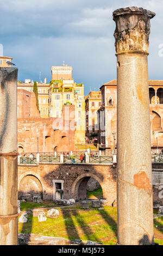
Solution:
{"label": "broken grey stone column without capital at left edge", "polygon": [[0,68],[0,245],[17,245],[17,70]]}

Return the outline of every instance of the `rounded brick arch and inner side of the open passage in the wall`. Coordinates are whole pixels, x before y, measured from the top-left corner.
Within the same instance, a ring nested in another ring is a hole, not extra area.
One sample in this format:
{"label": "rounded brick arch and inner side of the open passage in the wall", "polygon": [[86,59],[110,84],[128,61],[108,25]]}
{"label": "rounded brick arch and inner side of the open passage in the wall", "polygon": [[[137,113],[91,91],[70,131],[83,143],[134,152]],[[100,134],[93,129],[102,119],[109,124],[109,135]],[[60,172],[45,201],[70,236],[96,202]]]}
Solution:
{"label": "rounded brick arch and inner side of the open passage in the wall", "polygon": [[80,176],[73,182],[72,185],[72,194],[74,199],[85,199],[86,198],[86,188],[87,188],[87,182],[90,178],[94,178],[99,182],[99,184],[102,187],[103,190],[103,182],[92,173],[85,173]]}

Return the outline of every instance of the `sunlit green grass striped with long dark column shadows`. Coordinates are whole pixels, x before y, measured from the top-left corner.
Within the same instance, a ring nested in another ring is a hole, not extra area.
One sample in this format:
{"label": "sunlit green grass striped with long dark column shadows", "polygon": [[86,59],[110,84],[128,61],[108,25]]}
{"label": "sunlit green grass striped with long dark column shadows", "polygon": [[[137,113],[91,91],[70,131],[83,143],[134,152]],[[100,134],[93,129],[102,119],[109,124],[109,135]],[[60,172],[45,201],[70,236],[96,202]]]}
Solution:
{"label": "sunlit green grass striped with long dark column shadows", "polygon": [[[37,206],[38,205],[38,206]],[[18,222],[19,233],[33,233],[44,236],[64,237],[65,239],[81,239],[102,242],[103,245],[116,245],[117,243],[117,209],[104,206],[104,210],[97,208],[80,209],[79,205],[60,208],[54,204],[43,202],[21,203],[21,209],[49,206],[59,210],[59,217],[47,218],[39,222],[37,217],[28,214],[28,222]],[[45,210],[47,213],[47,210]],[[163,245],[163,217],[154,219],[154,242]]]}

